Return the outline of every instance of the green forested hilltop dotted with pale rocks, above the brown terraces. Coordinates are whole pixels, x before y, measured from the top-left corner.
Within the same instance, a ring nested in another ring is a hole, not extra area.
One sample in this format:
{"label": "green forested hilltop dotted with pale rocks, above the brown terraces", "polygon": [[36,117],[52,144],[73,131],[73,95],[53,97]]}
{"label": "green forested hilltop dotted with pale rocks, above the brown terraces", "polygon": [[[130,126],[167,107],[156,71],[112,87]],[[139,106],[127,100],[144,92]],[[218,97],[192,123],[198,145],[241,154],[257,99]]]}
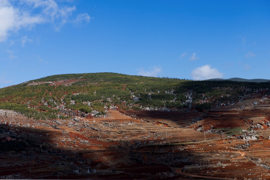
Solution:
{"label": "green forested hilltop dotted with pale rocks, above the brown terraces", "polygon": [[35,119],[105,115],[110,108],[203,110],[229,105],[269,82],[192,81],[119,73],[52,75],[0,89],[0,108]]}

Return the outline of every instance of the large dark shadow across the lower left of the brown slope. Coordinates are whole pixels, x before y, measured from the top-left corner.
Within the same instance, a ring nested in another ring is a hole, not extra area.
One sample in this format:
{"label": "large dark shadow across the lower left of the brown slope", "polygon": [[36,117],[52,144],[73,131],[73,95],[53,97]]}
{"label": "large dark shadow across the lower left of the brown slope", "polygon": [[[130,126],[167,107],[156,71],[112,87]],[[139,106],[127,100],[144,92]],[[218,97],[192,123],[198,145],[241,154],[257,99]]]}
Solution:
{"label": "large dark shadow across the lower left of the brown slope", "polygon": [[179,176],[171,173],[171,167],[204,162],[203,154],[185,150],[187,144],[143,145],[140,139],[133,139],[116,145],[100,141],[100,149],[72,142],[64,148],[61,139],[70,134],[59,129],[7,124],[0,124],[0,129],[2,136],[12,137],[7,141],[2,138],[0,178],[174,179]]}

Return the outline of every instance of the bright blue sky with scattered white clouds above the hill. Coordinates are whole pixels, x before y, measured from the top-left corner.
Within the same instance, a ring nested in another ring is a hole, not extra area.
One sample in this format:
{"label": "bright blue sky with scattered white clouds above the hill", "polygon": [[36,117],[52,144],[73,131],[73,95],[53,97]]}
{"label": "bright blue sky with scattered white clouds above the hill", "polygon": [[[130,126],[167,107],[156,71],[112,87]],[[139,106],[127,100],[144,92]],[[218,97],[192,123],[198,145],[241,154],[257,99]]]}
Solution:
{"label": "bright blue sky with scattered white clouds above the hill", "polygon": [[1,0],[0,87],[63,73],[270,79],[269,0]]}

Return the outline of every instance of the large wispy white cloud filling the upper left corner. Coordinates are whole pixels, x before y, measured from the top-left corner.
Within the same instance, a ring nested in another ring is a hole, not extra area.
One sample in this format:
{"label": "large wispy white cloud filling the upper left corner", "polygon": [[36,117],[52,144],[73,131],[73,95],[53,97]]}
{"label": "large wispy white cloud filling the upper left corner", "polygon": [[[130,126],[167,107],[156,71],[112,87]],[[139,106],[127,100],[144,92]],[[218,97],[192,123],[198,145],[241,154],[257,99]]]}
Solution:
{"label": "large wispy white cloud filling the upper left corner", "polygon": [[[56,0],[0,0],[0,42],[11,32],[31,29],[41,23],[52,23],[55,30],[59,30],[65,23],[74,21],[70,17],[75,10],[75,5],[64,5]],[[87,21],[89,15],[84,13],[82,17]]]}

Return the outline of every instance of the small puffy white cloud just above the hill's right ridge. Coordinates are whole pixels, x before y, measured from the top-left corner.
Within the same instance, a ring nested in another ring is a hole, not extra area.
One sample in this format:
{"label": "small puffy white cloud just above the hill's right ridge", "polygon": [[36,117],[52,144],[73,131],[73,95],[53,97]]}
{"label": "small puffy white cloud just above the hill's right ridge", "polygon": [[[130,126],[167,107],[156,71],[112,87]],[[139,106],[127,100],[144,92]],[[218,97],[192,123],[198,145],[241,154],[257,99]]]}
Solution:
{"label": "small puffy white cloud just above the hill's right ridge", "polygon": [[202,65],[191,71],[191,76],[195,80],[204,80],[210,78],[221,78],[223,73],[219,72],[216,68],[211,68],[210,65]]}

